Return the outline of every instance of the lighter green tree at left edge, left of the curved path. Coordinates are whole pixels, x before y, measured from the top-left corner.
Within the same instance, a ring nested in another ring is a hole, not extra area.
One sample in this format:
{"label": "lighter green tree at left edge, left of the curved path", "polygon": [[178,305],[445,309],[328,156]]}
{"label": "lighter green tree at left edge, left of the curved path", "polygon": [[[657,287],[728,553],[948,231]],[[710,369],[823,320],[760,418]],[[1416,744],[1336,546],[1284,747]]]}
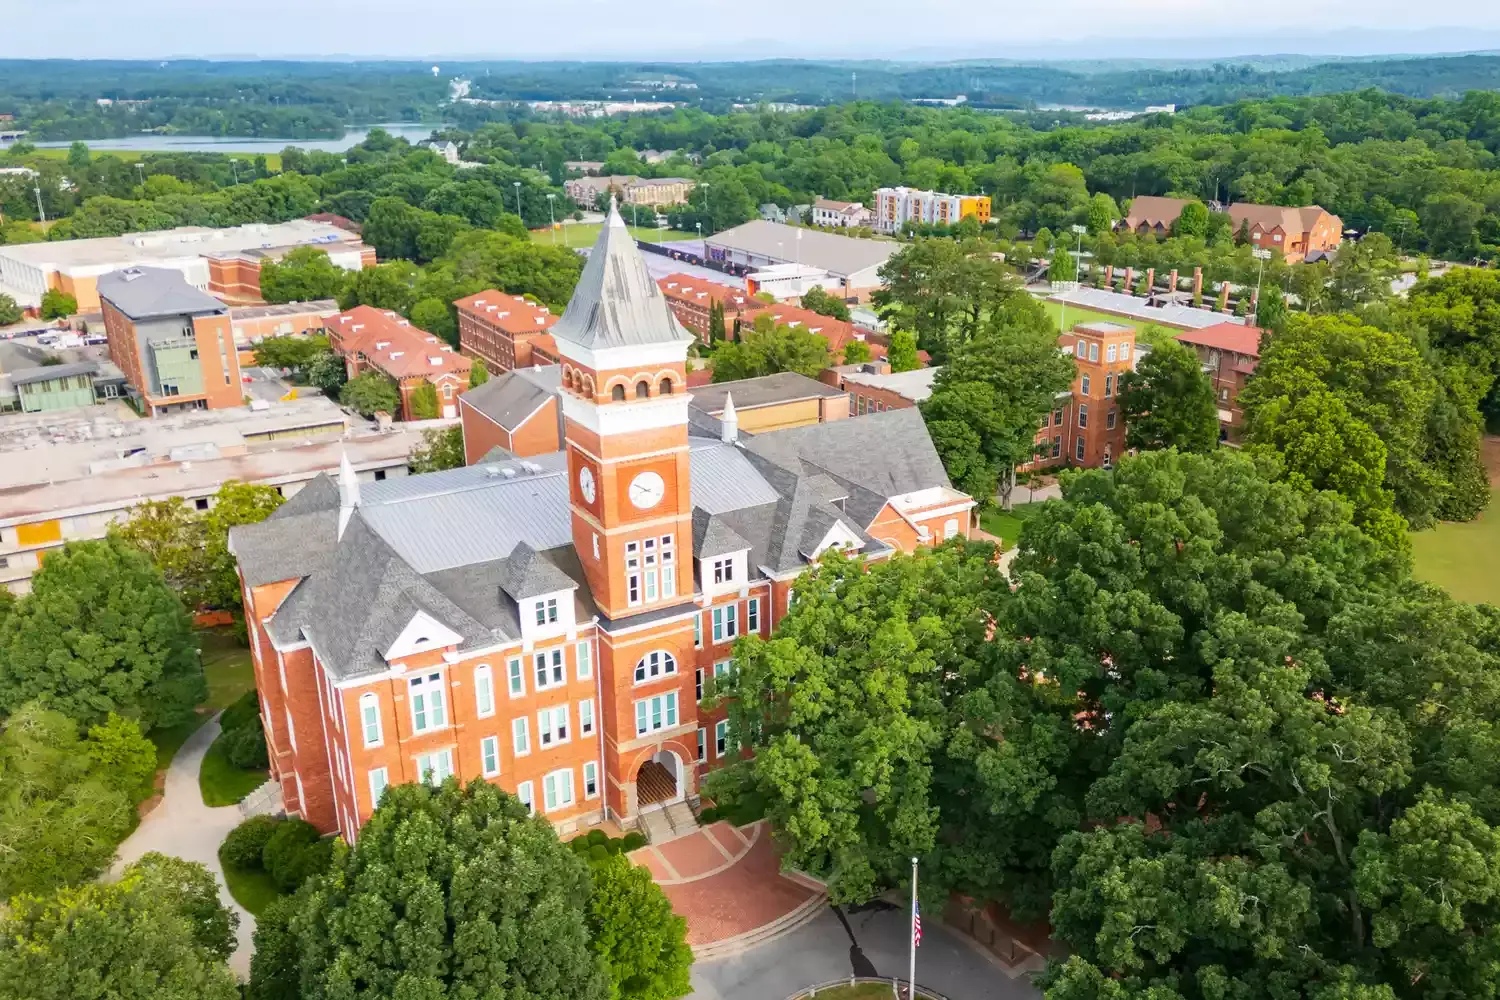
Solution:
{"label": "lighter green tree at left edge, left of the curved path", "polygon": [[0,730],[0,895],[104,871],[154,774],[156,748],[134,721],[110,715],[81,739],[66,715],[21,706]]}

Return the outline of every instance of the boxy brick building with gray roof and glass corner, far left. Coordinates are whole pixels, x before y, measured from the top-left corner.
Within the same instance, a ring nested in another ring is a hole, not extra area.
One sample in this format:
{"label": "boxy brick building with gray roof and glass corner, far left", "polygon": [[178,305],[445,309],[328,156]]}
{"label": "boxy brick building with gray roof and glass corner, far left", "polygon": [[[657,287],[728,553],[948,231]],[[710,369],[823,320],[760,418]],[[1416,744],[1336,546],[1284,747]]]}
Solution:
{"label": "boxy brick building with gray roof and glass corner, far left", "polygon": [[110,360],[147,417],[244,402],[228,306],[159,267],[111,271],[98,291]]}

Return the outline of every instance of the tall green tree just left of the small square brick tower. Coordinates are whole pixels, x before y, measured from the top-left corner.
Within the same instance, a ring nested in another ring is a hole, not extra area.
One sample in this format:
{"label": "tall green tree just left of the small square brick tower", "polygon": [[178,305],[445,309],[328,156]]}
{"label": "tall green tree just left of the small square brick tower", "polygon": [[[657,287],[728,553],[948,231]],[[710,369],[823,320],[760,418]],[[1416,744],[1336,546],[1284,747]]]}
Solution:
{"label": "tall green tree just left of the small square brick tower", "polygon": [[1052,319],[1044,321],[1041,330],[1028,321],[966,343],[922,403],[948,478],[981,504],[998,489],[1010,510],[1016,466],[1036,456],[1036,424],[1072,384],[1072,360],[1058,351]]}

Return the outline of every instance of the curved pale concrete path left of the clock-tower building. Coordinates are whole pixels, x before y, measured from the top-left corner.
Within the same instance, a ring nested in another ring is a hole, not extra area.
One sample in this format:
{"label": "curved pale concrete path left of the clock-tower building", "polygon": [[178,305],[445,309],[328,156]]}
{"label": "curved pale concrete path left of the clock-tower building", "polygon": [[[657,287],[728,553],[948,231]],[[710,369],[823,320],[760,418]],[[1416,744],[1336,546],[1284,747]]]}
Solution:
{"label": "curved pale concrete path left of the clock-tower building", "polygon": [[207,867],[219,882],[219,898],[224,906],[240,916],[240,927],[236,931],[238,945],[230,955],[230,969],[240,979],[248,979],[255,918],[246,913],[230,895],[230,889],[224,885],[224,870],[219,868],[219,844],[244,817],[236,805],[208,808],[202,804],[202,792],[198,790],[198,768],[218,736],[219,717],[214,715],[182,745],[182,750],[172,757],[171,766],[166,768],[166,787],[162,790],[162,801],[120,844],[111,874],[118,874],[128,864],[153,850],[183,861],[196,861]]}

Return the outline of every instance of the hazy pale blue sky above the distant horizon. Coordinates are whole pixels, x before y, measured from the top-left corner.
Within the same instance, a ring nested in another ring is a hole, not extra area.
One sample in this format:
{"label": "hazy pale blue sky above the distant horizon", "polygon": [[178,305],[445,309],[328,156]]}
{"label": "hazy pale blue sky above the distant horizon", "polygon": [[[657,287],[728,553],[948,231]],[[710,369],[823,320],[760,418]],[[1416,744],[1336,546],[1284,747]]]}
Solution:
{"label": "hazy pale blue sky above the distant horizon", "polygon": [[[9,0],[3,57],[1220,57],[1500,48],[1455,0]],[[24,43],[22,43],[24,40]]]}

